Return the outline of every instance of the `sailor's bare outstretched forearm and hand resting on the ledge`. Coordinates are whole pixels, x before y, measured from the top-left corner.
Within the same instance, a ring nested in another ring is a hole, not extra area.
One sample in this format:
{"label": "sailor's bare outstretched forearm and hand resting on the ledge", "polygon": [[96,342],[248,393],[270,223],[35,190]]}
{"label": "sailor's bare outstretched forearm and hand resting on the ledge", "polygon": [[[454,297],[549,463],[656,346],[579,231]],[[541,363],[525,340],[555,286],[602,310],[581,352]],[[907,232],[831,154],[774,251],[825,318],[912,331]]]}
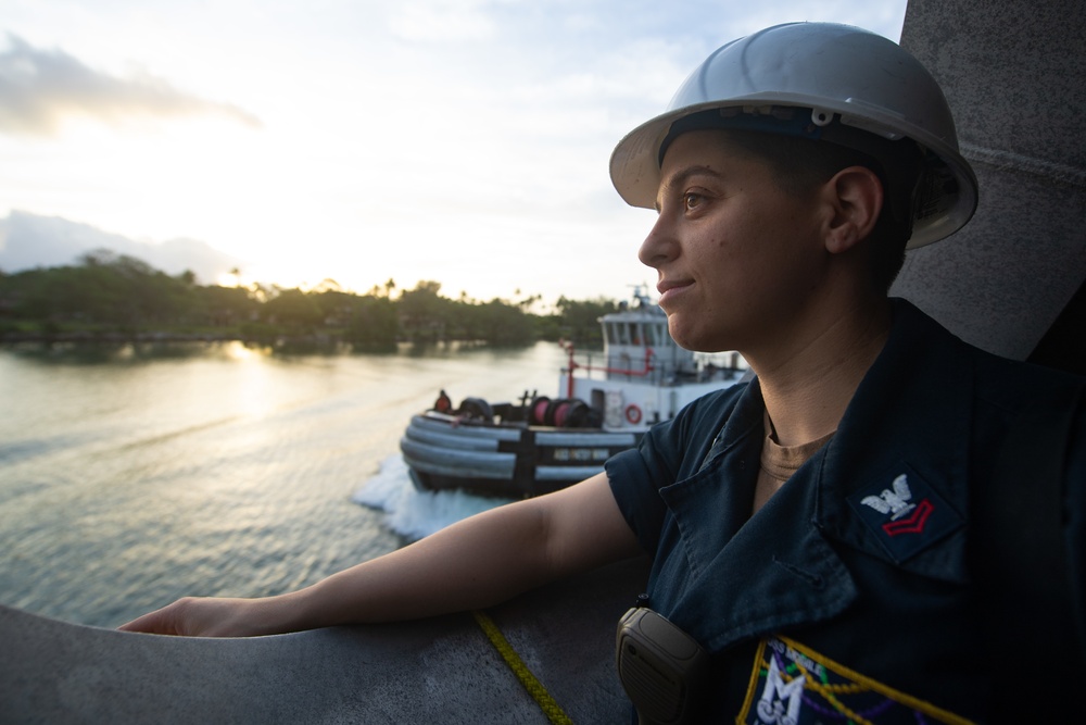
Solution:
{"label": "sailor's bare outstretched forearm and hand resting on the ledge", "polygon": [[187,598],[123,629],[253,636],[490,607],[640,548],[606,474],[483,512],[317,584],[265,599]]}

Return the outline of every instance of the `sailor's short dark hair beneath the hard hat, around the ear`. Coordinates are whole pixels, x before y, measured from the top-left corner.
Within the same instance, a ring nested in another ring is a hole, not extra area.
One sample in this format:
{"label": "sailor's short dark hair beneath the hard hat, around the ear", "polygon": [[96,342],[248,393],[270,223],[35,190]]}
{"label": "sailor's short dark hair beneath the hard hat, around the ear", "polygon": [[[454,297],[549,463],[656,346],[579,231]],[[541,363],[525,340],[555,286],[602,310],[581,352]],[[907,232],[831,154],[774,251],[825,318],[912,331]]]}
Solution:
{"label": "sailor's short dark hair beneath the hard hat, around the ear", "polygon": [[[891,141],[862,134],[871,152],[825,140],[727,129],[728,139],[741,150],[769,164],[780,188],[804,196],[849,166],[870,168],[883,185],[883,208],[869,240],[871,283],[886,293],[905,263],[905,246],[912,236],[913,204],[922,175],[922,152],[909,139]],[[854,138],[855,140],[855,138]],[[888,173],[891,172],[891,173]]]}

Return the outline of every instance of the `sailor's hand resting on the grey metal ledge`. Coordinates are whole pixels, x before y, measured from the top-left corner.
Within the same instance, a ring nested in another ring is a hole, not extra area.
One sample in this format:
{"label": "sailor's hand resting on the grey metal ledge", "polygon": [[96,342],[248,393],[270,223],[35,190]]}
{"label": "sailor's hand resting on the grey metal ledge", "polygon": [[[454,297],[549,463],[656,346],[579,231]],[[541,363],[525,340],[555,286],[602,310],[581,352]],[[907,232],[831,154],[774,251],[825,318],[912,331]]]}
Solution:
{"label": "sailor's hand resting on the grey metal ledge", "polygon": [[179,637],[266,635],[275,629],[266,621],[268,607],[262,604],[258,599],[186,597],[123,624],[118,629]]}

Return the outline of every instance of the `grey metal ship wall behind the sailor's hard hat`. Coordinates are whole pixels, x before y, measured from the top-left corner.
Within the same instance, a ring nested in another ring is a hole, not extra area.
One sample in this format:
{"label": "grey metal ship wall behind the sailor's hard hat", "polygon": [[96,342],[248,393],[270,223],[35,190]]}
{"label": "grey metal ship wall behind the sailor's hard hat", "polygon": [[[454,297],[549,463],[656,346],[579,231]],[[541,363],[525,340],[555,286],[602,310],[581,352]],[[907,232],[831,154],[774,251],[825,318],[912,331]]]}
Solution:
{"label": "grey metal ship wall behind the sailor's hard hat", "polygon": [[1086,3],[910,0],[901,45],[943,86],[981,201],[892,292],[1025,359],[1086,279]]}

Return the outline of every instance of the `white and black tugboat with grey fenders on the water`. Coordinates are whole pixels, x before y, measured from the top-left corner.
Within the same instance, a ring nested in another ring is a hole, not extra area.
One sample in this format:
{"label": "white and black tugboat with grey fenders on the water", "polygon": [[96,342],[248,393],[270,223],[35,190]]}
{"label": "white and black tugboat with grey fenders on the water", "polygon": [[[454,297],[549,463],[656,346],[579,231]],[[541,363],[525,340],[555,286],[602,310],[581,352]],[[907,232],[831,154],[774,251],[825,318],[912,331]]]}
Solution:
{"label": "white and black tugboat with grey fenders on the water", "polygon": [[514,499],[564,488],[746,373],[737,353],[721,364],[680,348],[643,288],[599,322],[603,364],[579,362],[565,343],[569,358],[555,398],[526,391],[516,402],[465,398],[454,408],[442,390],[431,410],[414,415],[400,450],[415,486]]}

